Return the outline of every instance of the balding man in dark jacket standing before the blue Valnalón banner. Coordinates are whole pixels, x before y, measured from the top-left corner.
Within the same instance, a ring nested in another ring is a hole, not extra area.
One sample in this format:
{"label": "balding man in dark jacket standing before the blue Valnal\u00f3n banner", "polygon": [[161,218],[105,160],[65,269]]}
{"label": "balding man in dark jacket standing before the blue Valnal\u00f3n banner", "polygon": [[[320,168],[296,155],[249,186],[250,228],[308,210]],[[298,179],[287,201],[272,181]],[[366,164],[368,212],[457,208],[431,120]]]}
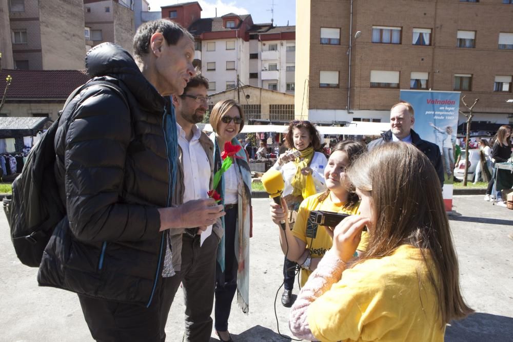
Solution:
{"label": "balding man in dark jacket standing before the blue Valnal\u00f3n banner", "polygon": [[[390,109],[390,130],[382,133],[381,138],[372,140],[367,149],[370,151],[376,146],[390,142],[405,142],[415,145],[430,160],[437,171],[440,184],[444,186],[444,165],[438,145],[420,138],[419,134],[411,129],[415,123],[413,107],[407,102],[400,102]],[[412,170],[412,172],[415,172]]]}

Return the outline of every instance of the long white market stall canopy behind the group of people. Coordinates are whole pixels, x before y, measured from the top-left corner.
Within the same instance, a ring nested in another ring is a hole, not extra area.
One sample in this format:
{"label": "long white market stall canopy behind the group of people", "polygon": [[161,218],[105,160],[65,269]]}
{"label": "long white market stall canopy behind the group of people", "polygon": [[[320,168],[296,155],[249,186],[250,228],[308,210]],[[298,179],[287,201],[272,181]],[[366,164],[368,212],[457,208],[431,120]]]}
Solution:
{"label": "long white market stall canopy behind the group of people", "polygon": [[[198,127],[206,132],[212,132],[210,124],[198,124]],[[389,123],[367,123],[353,121],[349,126],[317,126],[319,133],[323,135],[380,135],[390,129]],[[287,133],[287,126],[280,125],[244,125],[241,133],[278,132]]]}

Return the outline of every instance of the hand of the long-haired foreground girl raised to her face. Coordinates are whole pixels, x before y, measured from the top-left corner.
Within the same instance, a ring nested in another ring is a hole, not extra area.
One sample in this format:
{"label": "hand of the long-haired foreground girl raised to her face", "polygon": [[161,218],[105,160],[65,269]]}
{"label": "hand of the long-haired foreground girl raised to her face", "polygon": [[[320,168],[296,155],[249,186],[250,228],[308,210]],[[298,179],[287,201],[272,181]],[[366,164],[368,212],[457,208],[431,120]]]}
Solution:
{"label": "hand of the long-haired foreground girl raised to her face", "polygon": [[333,230],[331,251],[347,263],[360,243],[363,228],[368,224],[370,220],[363,216],[351,215],[344,218]]}

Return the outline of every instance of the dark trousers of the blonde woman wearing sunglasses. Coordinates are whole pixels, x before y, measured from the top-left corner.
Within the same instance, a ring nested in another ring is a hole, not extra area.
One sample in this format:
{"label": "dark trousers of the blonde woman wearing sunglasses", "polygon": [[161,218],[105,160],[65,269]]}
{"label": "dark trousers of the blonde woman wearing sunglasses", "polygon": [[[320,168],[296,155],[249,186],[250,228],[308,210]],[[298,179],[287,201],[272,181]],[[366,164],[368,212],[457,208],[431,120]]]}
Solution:
{"label": "dark trousers of the blonde woman wearing sunglasses", "polygon": [[225,210],[225,271],[216,266],[215,283],[215,330],[227,331],[231,302],[237,291],[238,264],[235,257],[235,228],[237,225],[237,207]]}

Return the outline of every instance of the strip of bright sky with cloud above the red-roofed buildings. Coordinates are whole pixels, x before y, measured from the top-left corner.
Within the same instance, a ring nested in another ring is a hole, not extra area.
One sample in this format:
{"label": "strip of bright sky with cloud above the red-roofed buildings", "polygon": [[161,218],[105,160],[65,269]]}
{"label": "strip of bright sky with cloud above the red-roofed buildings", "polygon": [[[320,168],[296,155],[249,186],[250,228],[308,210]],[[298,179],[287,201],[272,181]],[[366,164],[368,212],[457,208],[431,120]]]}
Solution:
{"label": "strip of bright sky with cloud above the red-roofed buildings", "polygon": [[[190,1],[190,0],[189,0]],[[186,0],[148,0],[151,11],[159,11],[161,6],[189,2]],[[273,0],[199,0],[201,16],[203,18],[215,16],[215,8],[218,16],[226,13],[251,14],[253,23],[270,23],[271,6]],[[274,25],[295,25],[295,0],[274,0]]]}

